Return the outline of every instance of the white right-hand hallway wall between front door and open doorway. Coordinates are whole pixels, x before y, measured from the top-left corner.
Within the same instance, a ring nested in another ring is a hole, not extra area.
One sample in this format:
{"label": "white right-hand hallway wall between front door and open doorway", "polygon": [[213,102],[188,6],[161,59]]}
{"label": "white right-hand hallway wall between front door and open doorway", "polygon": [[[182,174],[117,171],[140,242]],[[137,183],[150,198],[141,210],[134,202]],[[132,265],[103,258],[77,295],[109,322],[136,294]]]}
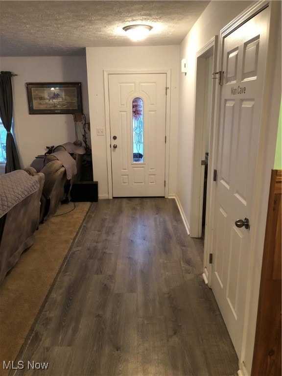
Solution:
{"label": "white right-hand hallway wall between front door and open doorway", "polygon": [[188,73],[179,78],[179,129],[177,199],[190,225],[190,195],[194,136],[196,53],[219,35],[252,1],[211,1],[180,46],[180,59],[187,58]]}

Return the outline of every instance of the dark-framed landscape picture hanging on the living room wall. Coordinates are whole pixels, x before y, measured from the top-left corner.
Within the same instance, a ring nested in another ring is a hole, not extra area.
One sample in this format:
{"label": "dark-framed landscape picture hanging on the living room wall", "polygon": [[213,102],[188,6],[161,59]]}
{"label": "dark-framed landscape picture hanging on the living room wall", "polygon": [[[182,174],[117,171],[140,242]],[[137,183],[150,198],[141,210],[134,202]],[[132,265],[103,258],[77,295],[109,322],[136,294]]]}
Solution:
{"label": "dark-framed landscape picture hanging on the living room wall", "polygon": [[81,82],[26,83],[30,115],[82,114]]}

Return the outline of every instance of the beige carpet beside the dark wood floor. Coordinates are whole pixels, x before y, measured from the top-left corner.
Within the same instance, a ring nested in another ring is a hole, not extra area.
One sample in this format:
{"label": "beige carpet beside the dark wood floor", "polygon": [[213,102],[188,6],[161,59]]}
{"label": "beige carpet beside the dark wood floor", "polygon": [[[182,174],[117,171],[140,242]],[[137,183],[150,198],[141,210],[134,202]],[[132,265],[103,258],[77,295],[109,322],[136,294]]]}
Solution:
{"label": "beige carpet beside the dark wood floor", "polygon": [[3,361],[15,360],[90,205],[61,205],[0,285],[0,376],[8,375]]}

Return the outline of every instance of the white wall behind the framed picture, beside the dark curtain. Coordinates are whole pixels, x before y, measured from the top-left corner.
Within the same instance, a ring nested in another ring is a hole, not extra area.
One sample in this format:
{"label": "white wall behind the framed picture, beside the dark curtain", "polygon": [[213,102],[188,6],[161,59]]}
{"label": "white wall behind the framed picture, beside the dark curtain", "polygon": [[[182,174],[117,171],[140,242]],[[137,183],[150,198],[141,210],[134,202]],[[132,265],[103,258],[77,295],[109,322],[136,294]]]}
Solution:
{"label": "white wall behind the framed picture, beside the dark curtain", "polygon": [[[18,74],[12,78],[15,138],[22,168],[29,165],[46,146],[75,140],[72,115],[29,115],[25,83],[81,82],[83,111],[89,120],[85,56],[2,57],[1,71]],[[82,140],[82,137],[80,137]]]}

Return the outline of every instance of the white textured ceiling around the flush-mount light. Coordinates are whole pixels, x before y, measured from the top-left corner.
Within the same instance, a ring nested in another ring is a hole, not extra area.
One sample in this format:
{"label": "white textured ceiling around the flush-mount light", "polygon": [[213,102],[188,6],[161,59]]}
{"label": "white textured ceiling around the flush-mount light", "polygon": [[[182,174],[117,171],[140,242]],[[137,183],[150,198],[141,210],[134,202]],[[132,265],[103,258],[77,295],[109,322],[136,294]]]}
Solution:
{"label": "white textured ceiling around the flush-mount light", "polygon": [[85,47],[134,46],[122,30],[150,24],[139,46],[178,45],[210,1],[0,1],[0,56],[84,55]]}

